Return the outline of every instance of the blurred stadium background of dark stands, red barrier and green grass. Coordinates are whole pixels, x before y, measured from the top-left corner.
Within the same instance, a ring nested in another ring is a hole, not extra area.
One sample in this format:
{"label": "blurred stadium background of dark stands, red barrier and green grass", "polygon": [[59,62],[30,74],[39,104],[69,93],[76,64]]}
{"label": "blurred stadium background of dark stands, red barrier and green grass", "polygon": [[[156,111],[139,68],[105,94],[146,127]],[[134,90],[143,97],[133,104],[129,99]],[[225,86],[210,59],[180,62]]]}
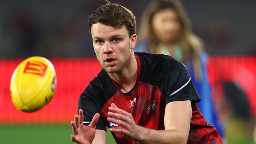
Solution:
{"label": "blurred stadium background of dark stands, red barrier and green grass", "polygon": [[[148,0],[111,2],[131,9],[139,25]],[[253,143],[250,137],[253,124],[248,123],[255,122],[256,117],[256,1],[182,0],[182,3],[193,31],[204,40],[210,55],[212,98],[224,108],[221,119],[228,143]],[[78,97],[102,68],[95,58],[87,27],[87,16],[102,4],[103,0],[0,1],[1,144],[72,143],[70,121],[77,113]],[[57,89],[46,107],[35,113],[23,113],[11,102],[9,84],[16,66],[34,55],[52,61]],[[230,81],[239,85],[242,92],[234,103],[235,98],[226,96],[230,93],[226,90],[230,89],[220,86]],[[241,104],[243,100],[245,105]],[[244,107],[248,105],[250,111],[246,114],[248,109]],[[108,143],[114,143],[111,137]]]}

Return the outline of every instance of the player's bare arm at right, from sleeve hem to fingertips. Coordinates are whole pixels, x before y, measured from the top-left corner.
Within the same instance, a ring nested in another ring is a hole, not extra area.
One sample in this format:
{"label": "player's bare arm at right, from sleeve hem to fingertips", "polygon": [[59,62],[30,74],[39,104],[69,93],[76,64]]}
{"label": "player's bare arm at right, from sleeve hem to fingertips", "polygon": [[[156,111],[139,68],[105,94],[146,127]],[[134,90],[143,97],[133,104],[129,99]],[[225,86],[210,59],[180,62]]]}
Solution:
{"label": "player's bare arm at right, from sleeve hem to fingertips", "polygon": [[168,103],[165,107],[165,130],[148,129],[137,125],[132,114],[119,109],[114,103],[111,103],[108,115],[110,122],[122,127],[122,129],[110,128],[109,131],[121,133],[127,139],[141,144],[186,144],[192,109],[189,100]]}

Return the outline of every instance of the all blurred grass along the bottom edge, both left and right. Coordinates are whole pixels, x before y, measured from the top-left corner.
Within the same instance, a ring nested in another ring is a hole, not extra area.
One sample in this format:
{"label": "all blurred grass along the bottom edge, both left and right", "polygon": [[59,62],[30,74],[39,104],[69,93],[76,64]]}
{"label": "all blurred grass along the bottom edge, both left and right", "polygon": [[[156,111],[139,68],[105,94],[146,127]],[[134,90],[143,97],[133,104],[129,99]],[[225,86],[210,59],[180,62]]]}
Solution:
{"label": "all blurred grass along the bottom edge, both left and right", "polygon": [[[232,124],[227,126],[228,144],[254,144],[243,126],[236,124],[234,129]],[[70,125],[4,125],[0,126],[0,144],[75,144],[70,140],[71,134]],[[108,144],[116,144],[109,131]]]}

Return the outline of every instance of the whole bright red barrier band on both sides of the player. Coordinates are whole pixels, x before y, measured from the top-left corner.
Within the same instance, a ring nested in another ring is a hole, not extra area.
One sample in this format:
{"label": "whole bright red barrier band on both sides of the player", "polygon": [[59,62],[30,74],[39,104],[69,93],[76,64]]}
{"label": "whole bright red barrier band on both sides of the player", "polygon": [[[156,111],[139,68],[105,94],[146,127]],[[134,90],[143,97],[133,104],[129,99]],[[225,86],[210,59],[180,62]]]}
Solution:
{"label": "whole bright red barrier band on both sides of the player", "polygon": [[[15,68],[24,59],[0,59],[0,125],[2,124],[69,124],[77,113],[80,94],[102,66],[96,58],[50,59],[57,75],[57,89],[52,101],[34,113],[17,110],[11,102],[9,85]],[[211,57],[209,76],[213,85],[221,80],[236,80],[248,94],[256,116],[256,57]],[[217,97],[216,97],[217,98]]]}

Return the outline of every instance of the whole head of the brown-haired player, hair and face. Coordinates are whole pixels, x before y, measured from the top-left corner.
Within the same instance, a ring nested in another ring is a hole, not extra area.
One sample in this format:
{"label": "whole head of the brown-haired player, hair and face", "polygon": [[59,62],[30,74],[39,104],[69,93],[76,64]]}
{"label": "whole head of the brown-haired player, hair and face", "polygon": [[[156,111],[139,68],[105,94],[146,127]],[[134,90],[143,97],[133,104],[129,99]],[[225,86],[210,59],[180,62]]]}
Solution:
{"label": "whole head of the brown-haired player, hair and face", "polygon": [[137,41],[135,16],[127,8],[109,3],[89,16],[89,31],[98,61],[108,73],[130,68]]}

